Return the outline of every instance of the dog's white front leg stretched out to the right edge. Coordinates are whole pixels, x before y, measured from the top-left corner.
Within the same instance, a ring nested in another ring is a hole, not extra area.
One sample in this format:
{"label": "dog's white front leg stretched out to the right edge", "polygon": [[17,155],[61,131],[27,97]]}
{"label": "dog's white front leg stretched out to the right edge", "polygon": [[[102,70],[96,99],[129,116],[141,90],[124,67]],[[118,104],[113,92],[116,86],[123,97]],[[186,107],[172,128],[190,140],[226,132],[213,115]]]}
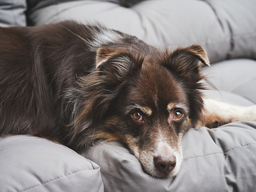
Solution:
{"label": "dog's white front leg stretched out to the right edge", "polygon": [[[234,106],[213,99],[204,99],[204,120],[201,125],[227,124],[236,121],[256,121],[256,106]],[[201,126],[198,124],[196,127]]]}

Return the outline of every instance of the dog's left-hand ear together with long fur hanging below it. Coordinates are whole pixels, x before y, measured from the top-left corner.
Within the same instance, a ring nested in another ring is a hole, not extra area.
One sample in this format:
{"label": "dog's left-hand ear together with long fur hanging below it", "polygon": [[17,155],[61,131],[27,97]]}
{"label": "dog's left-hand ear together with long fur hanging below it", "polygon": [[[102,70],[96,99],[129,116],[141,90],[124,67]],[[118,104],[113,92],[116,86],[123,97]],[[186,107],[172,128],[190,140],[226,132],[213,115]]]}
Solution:
{"label": "dog's left-hand ear together with long fur hanging below it", "polygon": [[90,74],[81,77],[78,83],[78,90],[81,94],[77,95],[83,96],[81,97],[82,104],[77,110],[78,113],[73,123],[76,128],[72,142],[76,148],[92,143],[92,141],[83,141],[83,143],[76,143],[76,141],[81,141],[79,138],[84,137],[84,134],[93,135],[93,132],[88,129],[97,126],[104,118],[111,108],[111,103],[118,97],[131,76],[136,76],[136,72],[140,71],[142,63],[143,59],[138,54],[132,54],[124,49],[99,48],[95,69]]}

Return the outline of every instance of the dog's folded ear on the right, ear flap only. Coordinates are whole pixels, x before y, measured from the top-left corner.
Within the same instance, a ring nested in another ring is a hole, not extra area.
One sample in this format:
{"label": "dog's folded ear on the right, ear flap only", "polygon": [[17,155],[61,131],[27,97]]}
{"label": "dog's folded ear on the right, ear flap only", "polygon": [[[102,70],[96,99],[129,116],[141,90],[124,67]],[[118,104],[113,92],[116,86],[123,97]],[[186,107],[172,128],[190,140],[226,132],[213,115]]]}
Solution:
{"label": "dog's folded ear on the right, ear flap only", "polygon": [[170,71],[175,72],[179,77],[196,83],[202,79],[200,74],[202,66],[210,66],[210,63],[207,53],[201,45],[191,45],[173,51],[168,56],[166,65]]}

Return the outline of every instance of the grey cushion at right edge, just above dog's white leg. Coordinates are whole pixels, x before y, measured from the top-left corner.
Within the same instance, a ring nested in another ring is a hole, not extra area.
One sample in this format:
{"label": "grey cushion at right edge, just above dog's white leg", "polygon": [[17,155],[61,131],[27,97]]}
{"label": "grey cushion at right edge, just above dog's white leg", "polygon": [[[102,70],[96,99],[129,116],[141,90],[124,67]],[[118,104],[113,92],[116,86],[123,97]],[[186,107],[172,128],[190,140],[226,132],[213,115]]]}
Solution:
{"label": "grey cushion at right edge, just above dog's white leg", "polygon": [[218,90],[236,93],[256,104],[256,61],[222,61],[205,67],[204,73]]}

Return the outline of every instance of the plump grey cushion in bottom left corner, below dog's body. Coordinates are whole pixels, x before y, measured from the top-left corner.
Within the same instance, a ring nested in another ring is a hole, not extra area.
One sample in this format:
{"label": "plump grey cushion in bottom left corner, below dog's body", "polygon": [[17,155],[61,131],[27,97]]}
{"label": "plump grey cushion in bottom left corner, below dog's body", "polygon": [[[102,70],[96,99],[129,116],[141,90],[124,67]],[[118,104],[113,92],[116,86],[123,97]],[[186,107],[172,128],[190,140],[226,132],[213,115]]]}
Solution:
{"label": "plump grey cushion in bottom left corner, below dog's body", "polygon": [[73,150],[32,136],[0,139],[0,191],[104,191],[100,168]]}

